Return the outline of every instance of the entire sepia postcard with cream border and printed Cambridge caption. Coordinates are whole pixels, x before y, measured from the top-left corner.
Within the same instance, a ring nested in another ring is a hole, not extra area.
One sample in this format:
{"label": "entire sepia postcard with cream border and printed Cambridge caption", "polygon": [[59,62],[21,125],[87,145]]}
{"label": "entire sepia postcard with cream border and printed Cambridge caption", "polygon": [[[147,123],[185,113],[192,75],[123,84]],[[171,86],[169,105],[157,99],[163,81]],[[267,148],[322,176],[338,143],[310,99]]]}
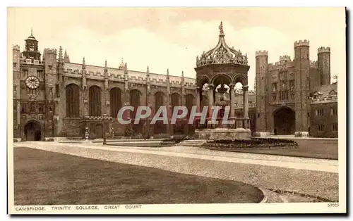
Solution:
{"label": "entire sepia postcard with cream border and printed Cambridge caption", "polygon": [[7,13],[9,214],[347,213],[346,8]]}

